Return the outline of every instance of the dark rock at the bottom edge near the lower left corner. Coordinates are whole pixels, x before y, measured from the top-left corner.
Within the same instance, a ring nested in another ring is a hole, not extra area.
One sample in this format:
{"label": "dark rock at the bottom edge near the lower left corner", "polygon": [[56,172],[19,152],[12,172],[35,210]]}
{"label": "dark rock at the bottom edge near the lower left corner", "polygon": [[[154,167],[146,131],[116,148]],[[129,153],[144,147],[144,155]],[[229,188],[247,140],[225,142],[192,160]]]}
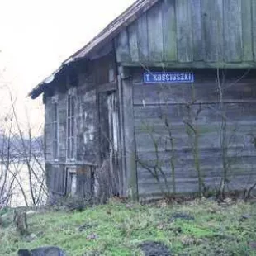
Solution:
{"label": "dark rock at the bottom edge near the lower left corner", "polygon": [[66,256],[64,251],[59,247],[47,246],[36,249],[19,249],[18,256]]}

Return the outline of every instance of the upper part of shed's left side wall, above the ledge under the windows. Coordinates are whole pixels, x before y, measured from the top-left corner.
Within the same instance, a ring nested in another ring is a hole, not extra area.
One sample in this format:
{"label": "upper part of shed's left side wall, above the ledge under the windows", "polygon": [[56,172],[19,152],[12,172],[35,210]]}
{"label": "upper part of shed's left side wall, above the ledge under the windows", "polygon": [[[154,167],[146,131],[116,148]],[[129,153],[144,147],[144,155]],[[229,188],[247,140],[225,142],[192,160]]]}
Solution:
{"label": "upper part of shed's left side wall, above the ledge under the windows", "polygon": [[[78,87],[71,88],[75,97],[75,149],[74,164],[96,164],[97,155],[97,109],[96,89],[93,88],[91,76],[80,75]],[[66,136],[67,136],[67,98],[68,88],[55,88],[55,92],[45,100],[45,157],[46,162],[55,163],[53,159],[53,98],[58,102],[58,134],[59,157],[57,163],[66,164]],[[67,163],[69,164],[69,163]],[[73,163],[71,163],[73,164]]]}

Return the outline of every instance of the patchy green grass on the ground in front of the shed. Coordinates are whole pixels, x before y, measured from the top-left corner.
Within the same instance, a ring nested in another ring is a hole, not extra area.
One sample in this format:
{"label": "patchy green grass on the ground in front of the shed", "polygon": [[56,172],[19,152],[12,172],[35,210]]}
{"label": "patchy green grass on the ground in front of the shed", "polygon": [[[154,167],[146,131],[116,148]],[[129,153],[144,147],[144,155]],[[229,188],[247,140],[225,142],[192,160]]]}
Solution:
{"label": "patchy green grass on the ground in front of the shed", "polygon": [[[194,220],[173,220],[176,213]],[[249,215],[241,220],[241,216]],[[171,220],[170,220],[171,219]],[[211,201],[183,205],[126,205],[111,201],[83,212],[37,213],[28,217],[31,242],[17,234],[11,222],[0,228],[0,254],[17,249],[56,245],[68,255],[142,255],[138,245],[147,240],[166,244],[173,255],[256,255],[256,204],[235,202],[220,206]],[[88,225],[88,230],[78,227]],[[91,228],[89,225],[92,225]]]}

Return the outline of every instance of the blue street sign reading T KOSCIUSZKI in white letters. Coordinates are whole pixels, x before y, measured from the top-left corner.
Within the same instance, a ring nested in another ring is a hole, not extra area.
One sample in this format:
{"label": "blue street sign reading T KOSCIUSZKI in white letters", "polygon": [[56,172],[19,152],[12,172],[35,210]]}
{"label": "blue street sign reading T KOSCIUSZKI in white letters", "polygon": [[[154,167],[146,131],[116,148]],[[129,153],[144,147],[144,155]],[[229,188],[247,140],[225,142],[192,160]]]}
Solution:
{"label": "blue street sign reading T KOSCIUSZKI in white letters", "polygon": [[153,72],[144,73],[144,83],[194,83],[194,73]]}

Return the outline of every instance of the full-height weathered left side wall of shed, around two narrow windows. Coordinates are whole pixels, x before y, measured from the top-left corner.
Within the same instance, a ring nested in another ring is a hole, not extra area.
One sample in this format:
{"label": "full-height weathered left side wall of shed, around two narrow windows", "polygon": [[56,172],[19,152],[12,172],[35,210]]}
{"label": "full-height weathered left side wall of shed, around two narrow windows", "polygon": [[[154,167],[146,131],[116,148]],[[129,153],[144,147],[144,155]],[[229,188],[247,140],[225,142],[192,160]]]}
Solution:
{"label": "full-height weathered left side wall of shed, around two narrow windows", "polygon": [[[92,74],[80,73],[77,86],[58,84],[45,93],[45,168],[47,186],[53,197],[69,192],[69,172],[77,170],[77,193],[92,192],[92,166],[98,164],[97,97]],[[67,99],[68,90],[75,97],[75,159],[67,159]],[[54,103],[58,102],[59,156],[53,158]],[[83,172],[81,172],[83,170]],[[85,186],[85,187],[84,187]]]}

